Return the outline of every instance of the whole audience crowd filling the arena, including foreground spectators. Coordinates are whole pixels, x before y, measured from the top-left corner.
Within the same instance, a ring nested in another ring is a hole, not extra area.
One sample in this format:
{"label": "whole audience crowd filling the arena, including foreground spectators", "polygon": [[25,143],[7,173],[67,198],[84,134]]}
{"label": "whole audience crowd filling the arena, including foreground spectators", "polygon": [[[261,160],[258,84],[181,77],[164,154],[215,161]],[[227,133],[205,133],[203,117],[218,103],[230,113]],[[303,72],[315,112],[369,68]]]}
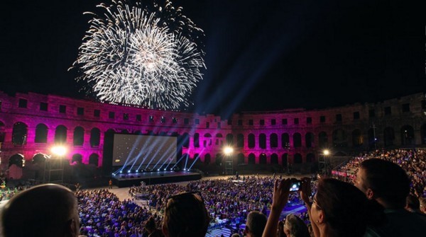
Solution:
{"label": "whole audience crowd filling the arena, including foreground spectators", "polygon": [[[351,182],[253,175],[131,187],[129,194],[146,198],[146,206],[120,201],[109,190],[74,193],[60,185],[40,185],[6,204],[3,234],[200,237],[229,225],[237,226],[232,236],[423,236],[426,209],[419,197],[425,191],[425,152],[378,152],[358,156],[341,168],[355,168]],[[295,182],[300,190],[293,188]],[[283,216],[292,205],[305,205],[307,214]],[[25,218],[13,221],[18,216]]]}

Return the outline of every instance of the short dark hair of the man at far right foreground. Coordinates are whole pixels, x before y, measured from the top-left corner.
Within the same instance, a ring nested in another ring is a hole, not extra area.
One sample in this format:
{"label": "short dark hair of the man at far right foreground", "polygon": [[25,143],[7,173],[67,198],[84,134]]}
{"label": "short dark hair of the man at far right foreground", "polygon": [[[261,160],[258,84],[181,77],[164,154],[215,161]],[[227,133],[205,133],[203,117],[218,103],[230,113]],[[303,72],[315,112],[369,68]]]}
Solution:
{"label": "short dark hair of the man at far right foreground", "polygon": [[405,207],[405,199],[410,193],[410,179],[403,168],[380,158],[363,161],[361,168],[366,171],[366,188],[373,190],[374,197],[381,197],[395,208]]}

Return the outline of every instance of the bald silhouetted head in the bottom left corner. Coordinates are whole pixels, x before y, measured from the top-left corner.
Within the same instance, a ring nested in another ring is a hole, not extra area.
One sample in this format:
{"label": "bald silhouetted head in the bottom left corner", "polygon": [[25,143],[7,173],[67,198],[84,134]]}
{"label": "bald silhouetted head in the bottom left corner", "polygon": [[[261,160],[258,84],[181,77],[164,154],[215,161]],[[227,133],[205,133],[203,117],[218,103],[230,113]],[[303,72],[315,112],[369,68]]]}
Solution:
{"label": "bald silhouetted head in the bottom left corner", "polygon": [[61,185],[38,185],[9,200],[1,212],[4,237],[79,235],[77,199]]}

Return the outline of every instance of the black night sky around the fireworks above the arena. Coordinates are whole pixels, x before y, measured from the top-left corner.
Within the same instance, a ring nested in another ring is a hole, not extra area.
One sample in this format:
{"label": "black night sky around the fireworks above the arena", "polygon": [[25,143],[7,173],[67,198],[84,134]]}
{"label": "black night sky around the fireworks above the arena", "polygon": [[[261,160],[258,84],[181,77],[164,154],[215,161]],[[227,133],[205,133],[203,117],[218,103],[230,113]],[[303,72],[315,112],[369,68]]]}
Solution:
{"label": "black night sky around the fireworks above the arena", "polygon": [[[5,1],[0,91],[82,98],[67,71],[109,0]],[[204,30],[196,112],[327,108],[426,91],[421,1],[185,0]]]}

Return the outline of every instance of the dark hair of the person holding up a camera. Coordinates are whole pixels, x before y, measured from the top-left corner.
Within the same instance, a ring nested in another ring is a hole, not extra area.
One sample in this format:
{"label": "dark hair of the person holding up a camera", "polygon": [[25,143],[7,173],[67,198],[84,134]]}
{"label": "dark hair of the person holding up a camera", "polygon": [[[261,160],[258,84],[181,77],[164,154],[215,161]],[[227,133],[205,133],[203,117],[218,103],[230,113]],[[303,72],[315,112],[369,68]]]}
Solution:
{"label": "dark hair of the person holding up a camera", "polygon": [[367,226],[367,197],[354,185],[333,178],[319,180],[317,209],[332,236],[363,236]]}

